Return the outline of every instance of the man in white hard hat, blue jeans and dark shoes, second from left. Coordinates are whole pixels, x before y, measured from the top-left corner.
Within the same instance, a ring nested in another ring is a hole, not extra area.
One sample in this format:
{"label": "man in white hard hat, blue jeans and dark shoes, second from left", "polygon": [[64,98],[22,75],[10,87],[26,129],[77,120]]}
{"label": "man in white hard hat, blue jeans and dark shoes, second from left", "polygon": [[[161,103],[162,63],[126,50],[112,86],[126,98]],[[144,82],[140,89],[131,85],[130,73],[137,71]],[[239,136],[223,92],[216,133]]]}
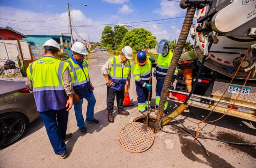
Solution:
{"label": "man in white hard hat, blue jeans and dark shoes, second from left", "polygon": [[[69,70],[72,77],[72,83],[74,88],[74,110],[76,116],[77,126],[81,134],[87,132],[85,128],[85,122],[91,124],[98,124],[99,121],[94,118],[94,106],[96,103],[95,96],[93,94],[93,86],[89,78],[88,62],[85,56],[88,55],[83,43],[75,42],[71,48],[73,55],[67,60],[69,63]],[[83,99],[87,100],[86,120],[84,122],[82,105]]]}

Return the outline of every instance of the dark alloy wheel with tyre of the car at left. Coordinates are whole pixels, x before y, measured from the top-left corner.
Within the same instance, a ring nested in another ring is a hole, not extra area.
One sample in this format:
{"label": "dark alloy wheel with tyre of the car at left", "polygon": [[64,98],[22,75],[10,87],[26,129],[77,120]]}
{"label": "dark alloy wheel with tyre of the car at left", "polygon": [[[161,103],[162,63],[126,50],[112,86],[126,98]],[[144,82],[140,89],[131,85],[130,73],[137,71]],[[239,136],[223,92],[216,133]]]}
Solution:
{"label": "dark alloy wheel with tyre of the car at left", "polygon": [[0,116],[0,147],[16,142],[27,128],[27,120],[19,113],[5,113]]}

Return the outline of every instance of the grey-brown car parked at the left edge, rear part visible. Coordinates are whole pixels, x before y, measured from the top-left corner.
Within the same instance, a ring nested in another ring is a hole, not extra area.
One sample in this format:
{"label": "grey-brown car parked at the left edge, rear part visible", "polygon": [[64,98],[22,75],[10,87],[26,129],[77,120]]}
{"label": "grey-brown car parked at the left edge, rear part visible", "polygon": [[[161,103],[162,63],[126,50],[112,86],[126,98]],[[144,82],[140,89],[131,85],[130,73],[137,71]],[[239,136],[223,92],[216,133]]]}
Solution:
{"label": "grey-brown car parked at the left edge, rear part visible", "polygon": [[39,117],[25,81],[23,77],[0,79],[0,147],[19,140],[28,123]]}

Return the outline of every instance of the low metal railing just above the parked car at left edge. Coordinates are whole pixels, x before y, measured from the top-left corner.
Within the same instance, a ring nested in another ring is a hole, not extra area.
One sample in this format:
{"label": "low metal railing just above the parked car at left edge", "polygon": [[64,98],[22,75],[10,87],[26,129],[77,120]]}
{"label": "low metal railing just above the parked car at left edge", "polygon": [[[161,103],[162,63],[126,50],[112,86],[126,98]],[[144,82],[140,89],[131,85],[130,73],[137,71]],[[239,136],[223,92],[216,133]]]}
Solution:
{"label": "low metal railing just above the parked car at left edge", "polygon": [[15,76],[20,74],[18,64],[0,65],[0,77]]}

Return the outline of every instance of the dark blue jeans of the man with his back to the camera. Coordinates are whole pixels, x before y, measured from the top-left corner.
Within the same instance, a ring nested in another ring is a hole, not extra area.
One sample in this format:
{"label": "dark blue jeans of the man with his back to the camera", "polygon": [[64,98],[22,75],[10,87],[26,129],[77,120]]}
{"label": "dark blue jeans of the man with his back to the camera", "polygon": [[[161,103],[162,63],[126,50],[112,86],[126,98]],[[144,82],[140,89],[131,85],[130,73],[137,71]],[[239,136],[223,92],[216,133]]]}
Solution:
{"label": "dark blue jeans of the man with his back to the camera", "polygon": [[39,112],[55,154],[66,152],[64,138],[67,131],[67,109]]}

